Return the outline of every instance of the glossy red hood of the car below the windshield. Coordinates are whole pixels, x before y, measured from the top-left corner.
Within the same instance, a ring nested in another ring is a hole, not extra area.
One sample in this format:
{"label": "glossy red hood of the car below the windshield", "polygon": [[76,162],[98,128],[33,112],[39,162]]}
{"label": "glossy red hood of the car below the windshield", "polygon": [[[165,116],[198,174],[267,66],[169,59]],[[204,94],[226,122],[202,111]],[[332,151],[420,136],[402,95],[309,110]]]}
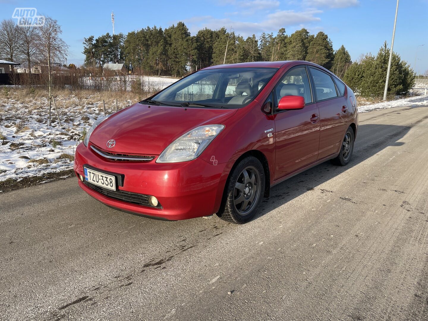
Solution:
{"label": "glossy red hood of the car below the windshield", "polygon": [[[137,103],[98,125],[89,141],[108,152],[159,155],[166,146],[193,128],[221,124],[236,111]],[[115,140],[115,146],[107,148],[108,140]]]}

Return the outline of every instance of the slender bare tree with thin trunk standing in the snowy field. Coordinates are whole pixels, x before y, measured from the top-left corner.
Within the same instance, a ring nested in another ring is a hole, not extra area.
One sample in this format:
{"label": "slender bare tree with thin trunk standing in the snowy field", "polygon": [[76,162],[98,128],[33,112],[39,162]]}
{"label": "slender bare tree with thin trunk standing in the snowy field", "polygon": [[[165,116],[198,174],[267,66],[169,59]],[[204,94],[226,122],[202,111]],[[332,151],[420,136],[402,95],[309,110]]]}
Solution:
{"label": "slender bare tree with thin trunk standing in the snowy field", "polygon": [[[49,16],[45,17],[45,24],[40,27],[40,45],[43,48],[42,56],[48,63],[48,88],[49,88],[49,126],[51,125],[52,107],[52,62],[64,62],[68,53],[68,45],[61,39],[61,27],[58,21]],[[59,120],[59,113],[56,110]]]}

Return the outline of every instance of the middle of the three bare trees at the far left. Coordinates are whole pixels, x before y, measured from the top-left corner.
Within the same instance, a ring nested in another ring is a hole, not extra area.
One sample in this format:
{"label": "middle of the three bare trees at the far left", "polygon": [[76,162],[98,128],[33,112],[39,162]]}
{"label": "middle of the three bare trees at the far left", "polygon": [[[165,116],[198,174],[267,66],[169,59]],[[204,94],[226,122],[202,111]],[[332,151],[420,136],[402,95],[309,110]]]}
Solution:
{"label": "middle of the three bare trees at the far left", "polygon": [[31,82],[31,60],[34,60],[40,54],[40,28],[19,27],[19,37],[21,39],[21,46],[18,48],[18,52],[27,60]]}

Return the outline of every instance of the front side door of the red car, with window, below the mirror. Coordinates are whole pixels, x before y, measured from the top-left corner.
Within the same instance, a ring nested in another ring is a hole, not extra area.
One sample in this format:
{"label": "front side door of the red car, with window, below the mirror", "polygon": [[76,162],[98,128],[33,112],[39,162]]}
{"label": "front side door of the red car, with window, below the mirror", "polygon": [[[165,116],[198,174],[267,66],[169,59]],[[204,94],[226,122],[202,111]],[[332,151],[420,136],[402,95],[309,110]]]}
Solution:
{"label": "front side door of the red car, with window, below the mirror", "polygon": [[[303,96],[305,107],[300,110],[278,110],[278,101],[285,95]],[[319,113],[306,66],[298,65],[285,72],[273,89],[273,97],[275,179],[278,179],[315,162],[318,158]]]}

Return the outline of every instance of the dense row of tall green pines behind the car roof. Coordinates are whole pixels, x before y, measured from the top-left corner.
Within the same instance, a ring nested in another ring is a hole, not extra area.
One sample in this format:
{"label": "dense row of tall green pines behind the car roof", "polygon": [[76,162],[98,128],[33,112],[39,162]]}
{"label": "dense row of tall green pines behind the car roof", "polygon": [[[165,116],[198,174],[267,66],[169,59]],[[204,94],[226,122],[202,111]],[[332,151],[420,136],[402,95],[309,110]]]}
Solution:
{"label": "dense row of tall green pines behind the car roof", "polygon": [[90,36],[84,39],[83,53],[87,66],[120,62],[137,73],[176,77],[223,62],[307,60],[339,77],[351,65],[345,47],[334,51],[331,40],[322,31],[312,35],[302,28],[288,35],[281,28],[276,35],[262,33],[260,37],[253,34],[244,38],[222,27],[204,28],[191,36],[183,22],[166,29],[146,27],[126,36]]}

